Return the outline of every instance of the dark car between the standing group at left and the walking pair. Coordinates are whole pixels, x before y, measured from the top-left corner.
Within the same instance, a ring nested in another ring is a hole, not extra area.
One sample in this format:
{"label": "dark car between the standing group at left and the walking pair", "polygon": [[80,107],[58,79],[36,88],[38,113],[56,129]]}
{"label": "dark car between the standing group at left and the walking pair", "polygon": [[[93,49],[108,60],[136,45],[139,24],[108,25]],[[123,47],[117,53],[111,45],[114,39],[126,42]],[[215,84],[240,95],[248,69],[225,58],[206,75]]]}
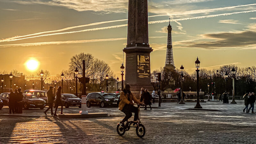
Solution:
{"label": "dark car between the standing group at left and the walking pair", "polygon": [[38,98],[37,96],[30,94],[30,93],[24,93],[23,94],[23,104],[24,109],[28,108],[45,108],[45,100]]}

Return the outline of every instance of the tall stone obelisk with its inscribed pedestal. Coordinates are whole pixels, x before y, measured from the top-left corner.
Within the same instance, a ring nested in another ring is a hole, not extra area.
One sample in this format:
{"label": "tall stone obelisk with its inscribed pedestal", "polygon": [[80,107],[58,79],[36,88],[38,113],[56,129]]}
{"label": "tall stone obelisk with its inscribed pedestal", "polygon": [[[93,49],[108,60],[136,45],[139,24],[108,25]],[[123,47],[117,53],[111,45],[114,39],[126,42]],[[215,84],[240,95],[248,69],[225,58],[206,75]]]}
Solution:
{"label": "tall stone obelisk with its inscribed pedestal", "polygon": [[148,44],[148,0],[129,0],[128,33],[125,52],[125,83],[131,90],[141,87],[153,90],[150,82],[150,52]]}

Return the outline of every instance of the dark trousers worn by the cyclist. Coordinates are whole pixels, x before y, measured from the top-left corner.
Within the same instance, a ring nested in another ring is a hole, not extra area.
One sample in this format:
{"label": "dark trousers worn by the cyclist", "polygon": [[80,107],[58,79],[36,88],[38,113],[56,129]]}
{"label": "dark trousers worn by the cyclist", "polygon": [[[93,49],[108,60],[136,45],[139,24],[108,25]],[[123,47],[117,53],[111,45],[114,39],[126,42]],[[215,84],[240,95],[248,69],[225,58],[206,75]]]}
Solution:
{"label": "dark trousers worn by the cyclist", "polygon": [[128,121],[130,117],[132,117],[132,113],[134,113],[134,121],[137,121],[139,118],[139,110],[138,108],[132,106],[132,105],[125,105],[122,112],[124,112],[125,117],[122,120],[122,122]]}

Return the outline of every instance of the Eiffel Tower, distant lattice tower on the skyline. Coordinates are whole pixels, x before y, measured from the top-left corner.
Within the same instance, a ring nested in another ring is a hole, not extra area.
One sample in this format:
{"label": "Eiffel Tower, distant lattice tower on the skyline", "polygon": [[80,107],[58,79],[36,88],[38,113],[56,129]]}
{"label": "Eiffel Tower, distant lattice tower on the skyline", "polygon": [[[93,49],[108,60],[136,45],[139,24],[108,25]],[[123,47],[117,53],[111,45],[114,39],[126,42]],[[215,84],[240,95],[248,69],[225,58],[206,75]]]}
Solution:
{"label": "Eiffel Tower, distant lattice tower on the skyline", "polygon": [[169,25],[167,27],[168,30],[168,37],[167,37],[167,50],[166,50],[166,59],[164,69],[175,69],[174,61],[173,61],[173,54],[172,54],[172,26],[170,24],[169,18]]}

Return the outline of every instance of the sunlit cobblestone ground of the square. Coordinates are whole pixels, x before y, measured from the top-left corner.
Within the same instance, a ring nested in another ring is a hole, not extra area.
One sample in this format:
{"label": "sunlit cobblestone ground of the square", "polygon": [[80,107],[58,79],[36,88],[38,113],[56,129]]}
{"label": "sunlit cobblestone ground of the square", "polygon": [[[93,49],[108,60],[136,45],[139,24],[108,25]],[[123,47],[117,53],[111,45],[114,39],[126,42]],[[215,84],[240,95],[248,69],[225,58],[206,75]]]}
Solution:
{"label": "sunlit cobblestone ground of the square", "polygon": [[[256,115],[243,113],[243,101],[237,102],[201,103],[205,109],[221,112],[186,110],[196,103],[162,103],[161,108],[141,109],[144,138],[138,138],[134,128],[123,136],[117,134],[116,124],[124,117],[118,108],[88,108],[88,112],[108,112],[107,118],[59,119],[43,116],[40,109],[23,111],[38,116],[5,116],[1,114],[7,114],[8,107],[4,107],[0,110],[0,143],[256,143]],[[80,109],[63,110],[78,113]]]}

